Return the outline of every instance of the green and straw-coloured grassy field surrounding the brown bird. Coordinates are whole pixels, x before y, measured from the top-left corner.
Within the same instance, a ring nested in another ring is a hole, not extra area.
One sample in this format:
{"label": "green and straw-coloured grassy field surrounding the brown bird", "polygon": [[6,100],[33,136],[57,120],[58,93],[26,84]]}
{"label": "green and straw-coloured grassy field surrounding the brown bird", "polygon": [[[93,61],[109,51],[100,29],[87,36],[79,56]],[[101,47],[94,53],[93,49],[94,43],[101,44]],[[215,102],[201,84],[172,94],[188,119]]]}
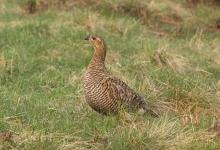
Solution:
{"label": "green and straw-coloured grassy field surrounding the brown bird", "polygon": [[[220,6],[181,0],[0,0],[0,149],[220,149]],[[82,78],[93,49],[160,112],[101,116]],[[3,138],[2,138],[3,139]]]}

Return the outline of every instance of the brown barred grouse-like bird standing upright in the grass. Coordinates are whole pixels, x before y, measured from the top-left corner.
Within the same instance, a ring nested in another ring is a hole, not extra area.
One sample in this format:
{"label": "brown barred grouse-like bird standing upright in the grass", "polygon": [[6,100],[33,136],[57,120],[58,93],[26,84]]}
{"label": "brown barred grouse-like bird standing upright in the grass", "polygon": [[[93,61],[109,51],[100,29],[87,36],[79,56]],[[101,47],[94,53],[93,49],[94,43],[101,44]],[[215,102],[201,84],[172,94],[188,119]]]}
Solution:
{"label": "brown barred grouse-like bird standing upright in the grass", "polygon": [[107,47],[104,39],[89,35],[85,40],[94,48],[93,57],[83,79],[85,99],[89,106],[103,115],[116,114],[127,107],[128,111],[143,109],[151,116],[158,117],[158,113],[148,106],[143,96],[107,70]]}

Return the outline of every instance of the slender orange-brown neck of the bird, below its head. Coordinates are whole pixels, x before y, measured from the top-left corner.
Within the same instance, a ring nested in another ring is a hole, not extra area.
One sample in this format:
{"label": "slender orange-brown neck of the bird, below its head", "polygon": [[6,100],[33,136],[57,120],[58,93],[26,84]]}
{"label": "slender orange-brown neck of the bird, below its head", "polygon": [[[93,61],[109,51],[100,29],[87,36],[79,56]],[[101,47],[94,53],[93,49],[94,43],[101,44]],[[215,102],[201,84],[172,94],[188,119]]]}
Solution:
{"label": "slender orange-brown neck of the bird, below its head", "polygon": [[106,48],[95,48],[92,60],[89,67],[96,68],[100,70],[106,70],[105,68],[105,57],[106,57]]}

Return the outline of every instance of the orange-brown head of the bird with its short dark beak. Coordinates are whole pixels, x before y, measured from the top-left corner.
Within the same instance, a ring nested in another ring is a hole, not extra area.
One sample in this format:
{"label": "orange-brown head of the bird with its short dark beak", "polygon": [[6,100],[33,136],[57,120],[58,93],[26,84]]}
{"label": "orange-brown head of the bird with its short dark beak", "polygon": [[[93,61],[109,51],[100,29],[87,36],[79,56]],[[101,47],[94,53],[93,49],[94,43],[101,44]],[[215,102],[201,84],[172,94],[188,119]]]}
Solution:
{"label": "orange-brown head of the bird with its short dark beak", "polygon": [[101,37],[89,35],[85,38],[96,50],[105,50],[105,42]]}

